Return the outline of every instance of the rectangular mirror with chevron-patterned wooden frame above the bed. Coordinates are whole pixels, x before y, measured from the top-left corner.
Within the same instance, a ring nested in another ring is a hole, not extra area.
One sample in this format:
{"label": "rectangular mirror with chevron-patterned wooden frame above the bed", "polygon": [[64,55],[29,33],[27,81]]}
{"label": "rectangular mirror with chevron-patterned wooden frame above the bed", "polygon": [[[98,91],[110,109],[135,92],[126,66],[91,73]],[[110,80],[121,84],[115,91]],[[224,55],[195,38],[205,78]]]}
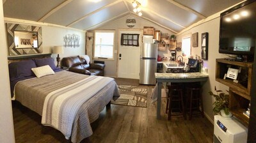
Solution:
{"label": "rectangular mirror with chevron-patterned wooden frame above the bed", "polygon": [[42,27],[6,24],[9,55],[42,53]]}

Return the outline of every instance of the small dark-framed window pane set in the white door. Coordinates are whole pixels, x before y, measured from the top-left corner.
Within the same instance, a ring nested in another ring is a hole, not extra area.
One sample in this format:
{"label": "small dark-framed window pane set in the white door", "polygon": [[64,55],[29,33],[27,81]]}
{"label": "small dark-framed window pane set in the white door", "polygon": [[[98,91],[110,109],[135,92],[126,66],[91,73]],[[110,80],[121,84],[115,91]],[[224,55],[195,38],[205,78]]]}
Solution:
{"label": "small dark-framed window pane set in the white door", "polygon": [[139,46],[139,35],[140,34],[122,34],[121,45],[127,46]]}

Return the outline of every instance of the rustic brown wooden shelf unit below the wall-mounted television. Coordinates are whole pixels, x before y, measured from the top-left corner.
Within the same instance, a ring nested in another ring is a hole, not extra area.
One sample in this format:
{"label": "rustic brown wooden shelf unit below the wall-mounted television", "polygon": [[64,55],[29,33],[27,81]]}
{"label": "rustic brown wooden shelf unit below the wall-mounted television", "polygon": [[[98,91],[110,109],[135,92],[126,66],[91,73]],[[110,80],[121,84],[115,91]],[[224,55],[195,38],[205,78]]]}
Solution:
{"label": "rustic brown wooden shelf unit below the wall-mounted television", "polygon": [[[244,116],[243,112],[248,109],[251,100],[251,79],[253,63],[244,63],[237,61],[228,61],[226,59],[216,59],[216,81],[230,87],[229,104],[230,112],[237,117],[245,126],[248,126],[249,118]],[[223,79],[228,68],[240,69],[238,82],[233,79]]]}

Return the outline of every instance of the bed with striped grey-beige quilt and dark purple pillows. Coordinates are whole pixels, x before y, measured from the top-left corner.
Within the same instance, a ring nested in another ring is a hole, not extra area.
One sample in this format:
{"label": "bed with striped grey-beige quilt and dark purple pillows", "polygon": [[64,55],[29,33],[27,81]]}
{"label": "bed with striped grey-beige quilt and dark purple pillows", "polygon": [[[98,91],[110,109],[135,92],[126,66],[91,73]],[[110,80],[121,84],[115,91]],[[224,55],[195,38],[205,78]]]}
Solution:
{"label": "bed with striped grey-beige quilt and dark purple pillows", "polygon": [[42,116],[71,142],[92,135],[90,123],[120,94],[114,79],[60,70],[51,57],[9,64],[12,100]]}

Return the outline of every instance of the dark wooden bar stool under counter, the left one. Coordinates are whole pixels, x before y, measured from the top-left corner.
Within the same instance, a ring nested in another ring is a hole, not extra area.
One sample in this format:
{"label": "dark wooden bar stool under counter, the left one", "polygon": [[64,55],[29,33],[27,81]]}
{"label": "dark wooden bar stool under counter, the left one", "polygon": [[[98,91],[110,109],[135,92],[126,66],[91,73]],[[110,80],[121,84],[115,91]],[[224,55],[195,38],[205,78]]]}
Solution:
{"label": "dark wooden bar stool under counter, the left one", "polygon": [[[179,107],[173,106],[173,103],[177,103]],[[179,110],[180,114],[172,114],[173,110]],[[171,116],[183,115],[184,119],[186,119],[186,112],[184,110],[184,102],[183,102],[183,93],[182,93],[182,85],[170,85],[168,86],[168,96],[166,103],[166,113],[168,113],[168,120],[171,119]]]}

